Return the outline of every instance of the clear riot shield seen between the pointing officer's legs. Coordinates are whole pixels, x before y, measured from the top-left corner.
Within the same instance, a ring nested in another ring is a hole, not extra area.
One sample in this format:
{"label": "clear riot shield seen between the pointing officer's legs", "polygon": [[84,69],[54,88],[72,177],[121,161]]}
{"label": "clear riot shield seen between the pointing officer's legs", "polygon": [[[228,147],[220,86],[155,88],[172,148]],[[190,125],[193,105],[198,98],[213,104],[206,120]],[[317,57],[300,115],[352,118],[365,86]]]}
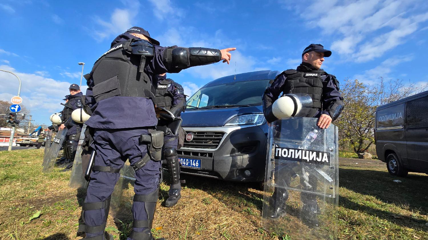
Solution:
{"label": "clear riot shield seen between the pointing officer's legs", "polygon": [[110,202],[110,215],[123,223],[131,223],[134,219],[132,216],[132,199],[134,197],[134,170],[126,161],[120,170],[120,177],[114,187]]}

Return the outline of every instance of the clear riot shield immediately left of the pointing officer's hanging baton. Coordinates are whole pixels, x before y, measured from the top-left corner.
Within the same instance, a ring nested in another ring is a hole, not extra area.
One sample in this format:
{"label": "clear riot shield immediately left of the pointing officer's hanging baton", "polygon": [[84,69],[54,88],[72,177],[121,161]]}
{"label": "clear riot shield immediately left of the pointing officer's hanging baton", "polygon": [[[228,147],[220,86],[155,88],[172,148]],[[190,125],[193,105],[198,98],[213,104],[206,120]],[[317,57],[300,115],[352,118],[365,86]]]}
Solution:
{"label": "clear riot shield immediately left of the pointing officer's hanging baton", "polygon": [[85,140],[86,124],[83,124],[82,130],[79,136],[79,143],[77,144],[76,155],[74,156],[73,167],[71,168],[70,188],[84,188],[86,186],[85,174],[82,168],[82,144]]}

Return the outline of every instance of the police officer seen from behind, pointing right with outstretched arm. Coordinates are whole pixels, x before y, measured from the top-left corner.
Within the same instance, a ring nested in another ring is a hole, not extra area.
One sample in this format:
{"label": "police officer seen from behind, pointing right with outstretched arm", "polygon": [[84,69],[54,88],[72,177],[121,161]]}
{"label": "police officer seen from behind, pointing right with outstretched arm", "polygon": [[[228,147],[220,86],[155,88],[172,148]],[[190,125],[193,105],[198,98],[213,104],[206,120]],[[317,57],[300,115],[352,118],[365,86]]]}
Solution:
{"label": "police officer seen from behind, pointing right with outstretched arm", "polygon": [[153,78],[165,72],[180,72],[193,66],[223,60],[229,64],[229,49],[161,47],[140,27],[116,37],[110,49],[85,75],[88,84],[85,123],[92,129],[95,163],[82,206],[85,239],[104,240],[110,197],[119,170],[128,159],[135,171],[133,230],[128,240],[153,240],[153,215],[158,202],[163,132],[155,130]]}

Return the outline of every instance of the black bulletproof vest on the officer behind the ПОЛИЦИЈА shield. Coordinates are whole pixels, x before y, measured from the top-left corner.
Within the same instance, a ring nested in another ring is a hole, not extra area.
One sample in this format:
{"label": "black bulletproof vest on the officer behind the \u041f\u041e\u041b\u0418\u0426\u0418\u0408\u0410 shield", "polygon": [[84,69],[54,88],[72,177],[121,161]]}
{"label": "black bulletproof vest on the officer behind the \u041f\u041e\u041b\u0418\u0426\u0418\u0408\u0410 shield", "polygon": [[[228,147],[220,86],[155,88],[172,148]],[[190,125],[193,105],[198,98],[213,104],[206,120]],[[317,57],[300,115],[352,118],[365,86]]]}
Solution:
{"label": "black bulletproof vest on the officer behind the \u041f\u041e\u041b\u0418\u0426\u0418\u0408\u0410 shield", "polygon": [[286,81],[282,92],[306,93],[312,98],[313,108],[321,110],[322,80],[321,73],[324,71],[297,72],[297,70],[286,70]]}

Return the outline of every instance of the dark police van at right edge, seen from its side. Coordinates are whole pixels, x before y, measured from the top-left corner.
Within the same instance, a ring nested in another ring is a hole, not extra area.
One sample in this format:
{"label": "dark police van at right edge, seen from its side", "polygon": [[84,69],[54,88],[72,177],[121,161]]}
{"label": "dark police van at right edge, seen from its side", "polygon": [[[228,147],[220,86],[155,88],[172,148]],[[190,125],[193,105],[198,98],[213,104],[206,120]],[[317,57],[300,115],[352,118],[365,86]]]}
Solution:
{"label": "dark police van at right edge, seen from its side", "polygon": [[377,107],[375,142],[391,175],[428,174],[428,91]]}

